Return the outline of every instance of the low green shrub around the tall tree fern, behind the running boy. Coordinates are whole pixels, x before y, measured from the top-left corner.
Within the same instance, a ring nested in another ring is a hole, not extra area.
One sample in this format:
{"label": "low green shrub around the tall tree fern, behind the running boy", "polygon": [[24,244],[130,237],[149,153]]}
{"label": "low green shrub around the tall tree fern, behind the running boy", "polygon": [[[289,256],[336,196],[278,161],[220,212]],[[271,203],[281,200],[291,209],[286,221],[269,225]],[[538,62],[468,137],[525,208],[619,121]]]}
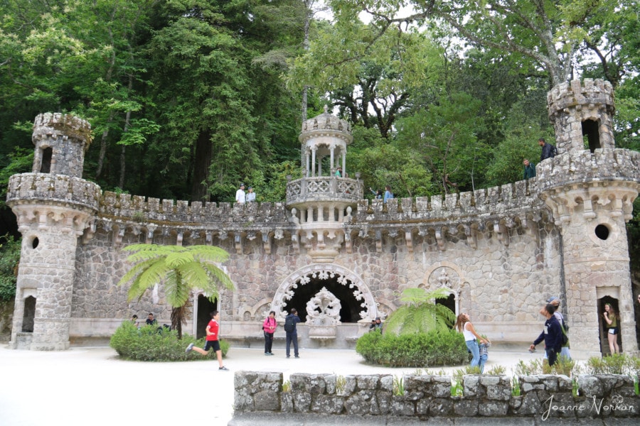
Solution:
{"label": "low green shrub around the tall tree fern, behind the running boy", "polygon": [[[214,351],[209,351],[207,356],[197,353],[185,354],[184,350],[190,343],[204,347],[205,339],[194,339],[188,334],[178,339],[175,330],[163,329],[145,325],[138,329],[132,322],[125,321],[111,337],[110,346],[117,351],[123,359],[134,361],[191,361],[202,359],[215,359]],[[223,357],[229,351],[229,344],[220,341],[220,349]],[[195,355],[194,355],[195,354]]]}

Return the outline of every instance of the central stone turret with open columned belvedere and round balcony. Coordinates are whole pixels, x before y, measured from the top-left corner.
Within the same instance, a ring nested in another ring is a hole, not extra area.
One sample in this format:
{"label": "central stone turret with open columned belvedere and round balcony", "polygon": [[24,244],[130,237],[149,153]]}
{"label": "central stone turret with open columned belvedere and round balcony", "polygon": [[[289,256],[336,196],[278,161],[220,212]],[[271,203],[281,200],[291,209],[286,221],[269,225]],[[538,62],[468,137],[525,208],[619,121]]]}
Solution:
{"label": "central stone turret with open columned belvedere and round balcony", "polygon": [[299,250],[302,243],[314,261],[332,262],[346,236],[343,223],[363,198],[360,173],[352,179],[346,170],[351,126],[325,106],[324,114],[302,123],[299,141],[304,177],[287,182],[287,208],[300,230],[294,246]]}

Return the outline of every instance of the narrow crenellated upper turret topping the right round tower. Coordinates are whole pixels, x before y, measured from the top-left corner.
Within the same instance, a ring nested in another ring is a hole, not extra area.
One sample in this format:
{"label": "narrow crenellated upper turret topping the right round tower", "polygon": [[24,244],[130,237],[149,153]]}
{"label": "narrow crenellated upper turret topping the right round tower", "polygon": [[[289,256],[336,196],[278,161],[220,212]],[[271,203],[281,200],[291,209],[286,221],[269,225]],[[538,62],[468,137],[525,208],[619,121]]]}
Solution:
{"label": "narrow crenellated upper turret topping the right round tower", "polygon": [[587,78],[558,84],[548,92],[547,104],[558,153],[615,148],[611,83]]}

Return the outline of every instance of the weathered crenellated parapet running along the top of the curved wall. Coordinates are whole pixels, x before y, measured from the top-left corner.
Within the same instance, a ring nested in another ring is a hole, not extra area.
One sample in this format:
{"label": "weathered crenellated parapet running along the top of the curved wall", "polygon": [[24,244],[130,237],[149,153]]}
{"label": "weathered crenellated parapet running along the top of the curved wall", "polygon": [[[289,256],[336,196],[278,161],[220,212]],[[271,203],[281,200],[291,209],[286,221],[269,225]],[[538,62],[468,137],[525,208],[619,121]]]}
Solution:
{"label": "weathered crenellated parapet running along the top of the curved wall", "polygon": [[[341,205],[333,211],[331,203],[324,201],[324,207],[306,202],[301,211],[285,208],[282,202],[190,203],[105,192],[97,227],[114,231],[116,243],[127,232],[145,234],[146,242],[152,242],[156,234],[171,234],[178,244],[186,236],[203,238],[209,244],[214,237],[220,240],[233,237],[238,253],[242,252],[243,241],[258,237],[269,252],[270,239],[282,239],[285,234],[291,236],[297,252],[301,246],[308,251],[317,250],[317,246],[313,248],[309,243],[317,237],[321,244],[326,244],[324,251],[330,246],[337,254],[343,245],[351,252],[351,239],[356,236],[375,239],[381,250],[383,234],[402,235],[410,251],[412,234],[432,236],[442,250],[452,235],[462,235],[475,247],[478,233],[484,232],[496,234],[508,245],[509,234],[518,227],[537,239],[538,222],[547,215],[535,180],[445,196],[391,199],[387,204],[358,197],[352,201],[358,203],[353,210]],[[336,200],[336,205],[341,204],[339,201]]]}

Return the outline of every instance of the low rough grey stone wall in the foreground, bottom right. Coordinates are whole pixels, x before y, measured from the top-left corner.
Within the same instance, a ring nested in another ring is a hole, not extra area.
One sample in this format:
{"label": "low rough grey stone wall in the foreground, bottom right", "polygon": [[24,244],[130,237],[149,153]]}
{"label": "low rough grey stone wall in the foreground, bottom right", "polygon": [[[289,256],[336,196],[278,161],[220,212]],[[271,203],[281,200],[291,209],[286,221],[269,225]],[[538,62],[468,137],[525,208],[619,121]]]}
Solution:
{"label": "low rough grey stone wall in the foreground, bottom right", "polygon": [[[580,420],[640,417],[640,397],[628,376],[578,376],[574,396],[567,376],[521,376],[521,395],[511,395],[507,376],[464,376],[463,396],[451,395],[449,376],[404,376],[404,395],[394,395],[391,375],[294,373],[282,391],[282,373],[235,373],[234,416],[242,413],[367,415],[388,417],[532,417]],[[339,384],[338,384],[339,383]],[[334,419],[336,417],[333,417]]]}

